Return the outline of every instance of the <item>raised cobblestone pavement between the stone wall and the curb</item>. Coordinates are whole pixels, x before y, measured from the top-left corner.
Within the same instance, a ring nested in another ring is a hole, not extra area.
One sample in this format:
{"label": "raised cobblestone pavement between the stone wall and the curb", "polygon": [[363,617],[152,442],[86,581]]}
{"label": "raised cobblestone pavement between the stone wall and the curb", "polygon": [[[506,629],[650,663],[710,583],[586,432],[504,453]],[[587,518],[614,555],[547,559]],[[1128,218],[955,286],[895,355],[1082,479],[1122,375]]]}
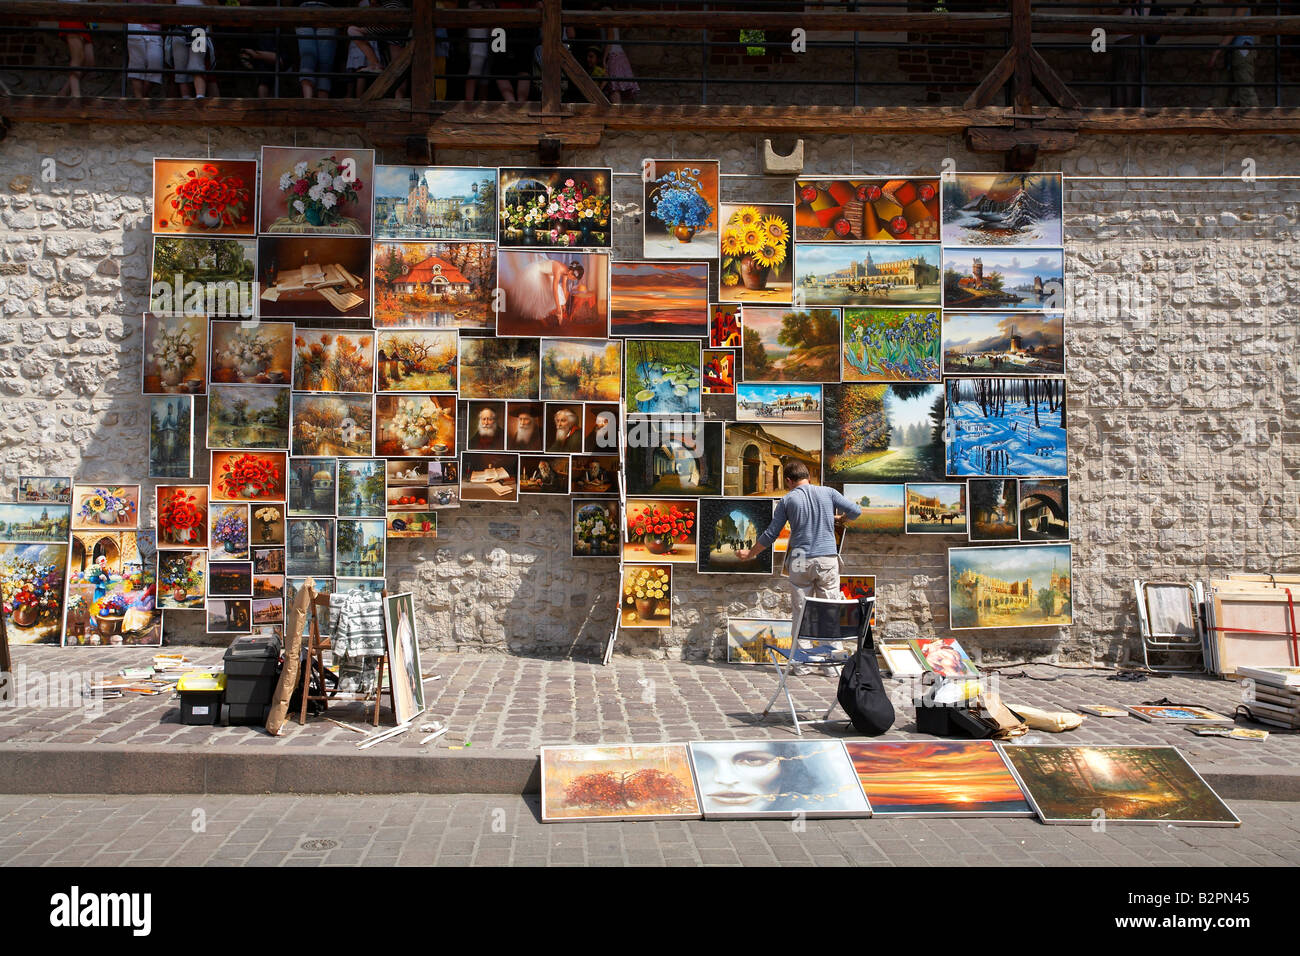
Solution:
{"label": "raised cobblestone pavement between the stone wall and the curb", "polygon": [[[29,687],[69,683],[70,675],[92,671],[114,674],[130,665],[146,665],[156,648],[14,648],[14,667]],[[183,652],[198,665],[220,665],[216,648],[168,648]],[[758,718],[775,688],[771,667],[724,663],[682,663],[616,657],[599,665],[533,659],[493,654],[442,654],[424,659],[428,721],[442,721],[450,732],[439,747],[469,741],[478,750],[536,750],[542,744],[642,743],[786,737],[793,734],[788,711],[776,708]],[[1026,676],[1015,676],[1015,675]],[[1076,708],[1084,702],[1140,704],[1169,698],[1204,704],[1231,714],[1242,688],[1212,678],[1152,678],[1144,683],[1106,680],[1108,671],[1066,670],[1050,666],[1011,666],[1001,672],[1000,689],[1009,702],[1041,708]],[[910,693],[898,682],[887,682],[898,700]],[[79,684],[77,684],[79,687]],[[812,675],[790,682],[796,702],[809,715],[820,717],[835,696],[833,678]],[[30,702],[30,701],[29,701]],[[64,701],[66,702],[66,701]],[[784,701],[783,701],[784,704]],[[842,711],[837,711],[842,717]],[[332,708],[332,714],[369,728],[361,705]],[[384,717],[391,723],[391,715]],[[1247,721],[1240,726],[1256,727]],[[844,722],[809,727],[811,735],[841,735]],[[372,748],[389,752],[417,750],[422,735],[406,734]],[[1244,770],[1300,766],[1300,737],[1273,731],[1264,743],[1197,737],[1182,727],[1157,727],[1136,718],[1088,718],[1070,734],[1043,735],[1052,743],[1175,744],[1200,770]],[[172,693],[156,697],[126,695],[104,701],[103,711],[84,706],[0,706],[0,744],[130,744],[240,745],[290,748],[346,748],[355,752],[358,735],[328,721],[296,721],[285,735],[269,737],[255,727],[186,727]],[[885,739],[931,739],[915,734],[913,708],[898,708],[894,730]]]}

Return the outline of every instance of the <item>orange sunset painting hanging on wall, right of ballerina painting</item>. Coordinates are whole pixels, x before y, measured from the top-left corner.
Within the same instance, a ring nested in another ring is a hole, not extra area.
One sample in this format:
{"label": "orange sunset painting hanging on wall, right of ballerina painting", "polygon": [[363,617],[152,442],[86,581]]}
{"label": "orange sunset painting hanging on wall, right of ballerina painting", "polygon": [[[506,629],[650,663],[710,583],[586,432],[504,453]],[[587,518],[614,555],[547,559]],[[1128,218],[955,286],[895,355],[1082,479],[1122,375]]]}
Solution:
{"label": "orange sunset painting hanging on wall, right of ballerina painting", "polygon": [[610,334],[708,336],[708,263],[610,263]]}

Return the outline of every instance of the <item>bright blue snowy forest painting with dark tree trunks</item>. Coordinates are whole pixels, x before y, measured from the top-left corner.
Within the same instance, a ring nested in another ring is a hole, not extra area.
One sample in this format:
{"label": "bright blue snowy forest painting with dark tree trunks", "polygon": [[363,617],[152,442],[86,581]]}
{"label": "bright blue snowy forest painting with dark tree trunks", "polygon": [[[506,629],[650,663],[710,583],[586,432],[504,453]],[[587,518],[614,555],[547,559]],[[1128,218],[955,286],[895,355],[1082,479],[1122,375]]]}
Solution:
{"label": "bright blue snowy forest painting with dark tree trunks", "polygon": [[1065,477],[1065,378],[949,378],[948,473]]}

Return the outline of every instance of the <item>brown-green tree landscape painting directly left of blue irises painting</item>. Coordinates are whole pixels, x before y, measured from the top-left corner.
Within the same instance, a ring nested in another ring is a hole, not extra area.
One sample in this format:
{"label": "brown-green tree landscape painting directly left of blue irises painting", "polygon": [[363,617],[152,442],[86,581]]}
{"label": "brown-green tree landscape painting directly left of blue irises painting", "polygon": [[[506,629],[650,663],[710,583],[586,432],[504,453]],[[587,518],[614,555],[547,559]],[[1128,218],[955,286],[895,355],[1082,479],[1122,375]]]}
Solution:
{"label": "brown-green tree landscape painting directly left of blue irises painting", "polygon": [[745,307],[745,381],[840,381],[840,310]]}

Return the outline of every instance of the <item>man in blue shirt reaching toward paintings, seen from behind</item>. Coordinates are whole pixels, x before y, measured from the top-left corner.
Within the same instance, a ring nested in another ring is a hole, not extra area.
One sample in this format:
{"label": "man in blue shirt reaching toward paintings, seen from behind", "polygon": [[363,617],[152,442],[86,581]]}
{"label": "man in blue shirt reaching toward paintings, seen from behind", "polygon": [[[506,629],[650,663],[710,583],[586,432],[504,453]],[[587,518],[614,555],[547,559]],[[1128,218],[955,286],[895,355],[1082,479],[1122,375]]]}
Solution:
{"label": "man in blue shirt reaching toward paintings, seen from behind", "polygon": [[835,529],[845,516],[861,515],[862,509],[833,488],[814,485],[803,462],[786,462],[781,473],[789,490],[776,503],[772,523],[758,536],[753,548],[738,551],[737,557],[749,561],[764,548],[771,548],[789,522],[790,542],[785,561],[790,568],[790,602],[794,606],[792,633],[797,635],[807,598],[838,597],[840,553],[835,544]]}

